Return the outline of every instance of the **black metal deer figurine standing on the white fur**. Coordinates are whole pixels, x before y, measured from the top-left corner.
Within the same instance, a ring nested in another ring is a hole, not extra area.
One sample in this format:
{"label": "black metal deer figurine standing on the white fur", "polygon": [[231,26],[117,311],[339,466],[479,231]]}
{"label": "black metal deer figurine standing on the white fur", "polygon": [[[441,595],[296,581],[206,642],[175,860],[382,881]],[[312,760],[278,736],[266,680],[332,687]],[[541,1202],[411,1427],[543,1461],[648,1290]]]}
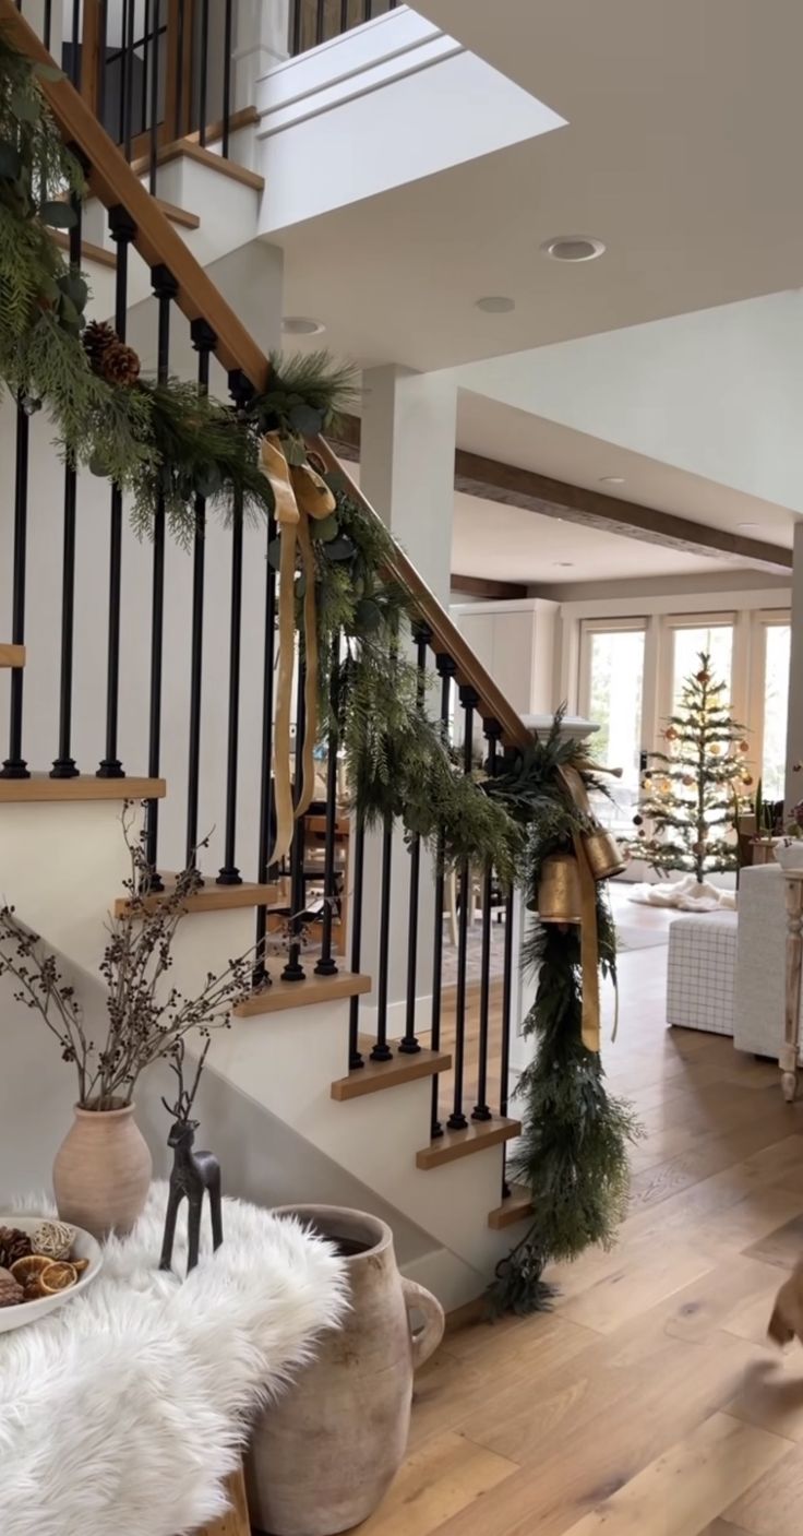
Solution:
{"label": "black metal deer figurine standing on the white fur", "polygon": [[220,1163],[212,1152],[193,1152],[192,1143],[198,1129],[198,1121],[190,1120],[192,1104],[198,1091],[198,1081],[207,1057],[210,1041],[198,1061],[198,1071],[192,1089],[184,1087],[184,1041],[181,1040],[170,1066],[178,1078],[178,1098],[175,1104],[161,1100],[169,1115],[173,1115],[173,1126],[167,1137],[167,1146],[173,1149],[173,1170],[170,1174],[170,1193],[167,1197],[167,1215],[164,1218],[164,1241],[161,1244],[160,1269],[172,1267],[175,1223],[181,1201],[187,1200],[187,1275],[198,1263],[198,1247],[201,1241],[201,1215],[204,1190],[209,1190],[209,1206],[212,1213],[212,1246],[218,1249],[223,1243],[223,1210]]}

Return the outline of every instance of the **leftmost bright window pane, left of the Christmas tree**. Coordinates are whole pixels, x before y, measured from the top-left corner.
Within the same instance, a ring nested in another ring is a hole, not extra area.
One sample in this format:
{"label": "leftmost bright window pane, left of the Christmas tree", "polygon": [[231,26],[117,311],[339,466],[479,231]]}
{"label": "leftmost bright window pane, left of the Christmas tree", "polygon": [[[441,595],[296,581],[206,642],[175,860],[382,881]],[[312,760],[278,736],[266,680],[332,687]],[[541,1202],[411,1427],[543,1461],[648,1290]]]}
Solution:
{"label": "leftmost bright window pane, left of the Christmas tree", "polygon": [[594,756],[610,768],[622,768],[622,779],[610,780],[614,806],[608,802],[594,806],[614,831],[630,833],[639,800],[643,657],[643,621],[622,621],[610,628],[583,625],[580,713],[599,725],[591,737]]}

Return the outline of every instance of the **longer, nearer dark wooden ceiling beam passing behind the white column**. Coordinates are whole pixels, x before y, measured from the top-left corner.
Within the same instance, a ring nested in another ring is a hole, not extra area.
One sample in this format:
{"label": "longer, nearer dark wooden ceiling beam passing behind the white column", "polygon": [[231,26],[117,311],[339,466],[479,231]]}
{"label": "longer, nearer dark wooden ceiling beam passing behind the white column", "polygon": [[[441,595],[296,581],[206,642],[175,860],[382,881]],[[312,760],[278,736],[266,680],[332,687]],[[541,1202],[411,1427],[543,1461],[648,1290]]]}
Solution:
{"label": "longer, nearer dark wooden ceiling beam passing behind the white column", "polygon": [[[359,416],[344,416],[336,432],[338,452],[342,452],[342,458],[359,458]],[[570,485],[536,470],[487,459],[467,449],[458,449],[454,453],[454,490],[467,496],[482,496],[485,501],[499,501],[505,507],[522,507],[524,511],[536,511],[542,518],[559,518],[583,528],[617,533],[625,539],[662,544],[685,554],[702,554],[709,559],[726,554],[740,565],[758,567],[782,576],[788,576],[792,570],[792,551],[778,544],[746,539],[742,533],[729,533],[728,528],[712,528],[671,511],[659,511],[636,501],[588,490],[585,485]]]}

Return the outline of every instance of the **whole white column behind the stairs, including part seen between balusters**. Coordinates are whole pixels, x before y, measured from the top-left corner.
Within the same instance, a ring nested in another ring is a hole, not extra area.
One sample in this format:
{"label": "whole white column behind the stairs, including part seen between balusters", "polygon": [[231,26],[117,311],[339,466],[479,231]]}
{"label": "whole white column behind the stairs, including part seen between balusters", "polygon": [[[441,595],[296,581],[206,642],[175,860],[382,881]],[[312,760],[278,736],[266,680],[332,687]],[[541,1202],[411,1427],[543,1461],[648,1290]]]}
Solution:
{"label": "whole white column behind the stairs, including part seen between balusters", "polygon": [[[439,375],[388,366],[364,373],[359,484],[435,596],[448,610],[454,510],[456,389]],[[428,694],[430,714],[438,691]],[[365,839],[362,971],[376,983],[379,954],[381,836]],[[393,839],[388,957],[388,1038],[404,1034],[410,854],[401,828]],[[421,860],[418,900],[416,1028],[428,1029],[435,937],[431,860]],[[367,998],[364,1028],[370,1032]],[[424,1041],[427,1044],[427,1041]]]}

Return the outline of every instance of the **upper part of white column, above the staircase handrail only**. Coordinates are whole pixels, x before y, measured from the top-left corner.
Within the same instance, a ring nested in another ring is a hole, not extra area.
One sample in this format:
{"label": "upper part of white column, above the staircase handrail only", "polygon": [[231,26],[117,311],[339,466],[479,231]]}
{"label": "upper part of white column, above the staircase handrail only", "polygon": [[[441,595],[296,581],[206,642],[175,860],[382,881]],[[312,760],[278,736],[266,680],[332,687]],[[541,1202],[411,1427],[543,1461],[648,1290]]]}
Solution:
{"label": "upper part of white column, above the staircase handrail only", "polygon": [[359,484],[448,608],[458,392],[439,373],[393,364],[362,376]]}

